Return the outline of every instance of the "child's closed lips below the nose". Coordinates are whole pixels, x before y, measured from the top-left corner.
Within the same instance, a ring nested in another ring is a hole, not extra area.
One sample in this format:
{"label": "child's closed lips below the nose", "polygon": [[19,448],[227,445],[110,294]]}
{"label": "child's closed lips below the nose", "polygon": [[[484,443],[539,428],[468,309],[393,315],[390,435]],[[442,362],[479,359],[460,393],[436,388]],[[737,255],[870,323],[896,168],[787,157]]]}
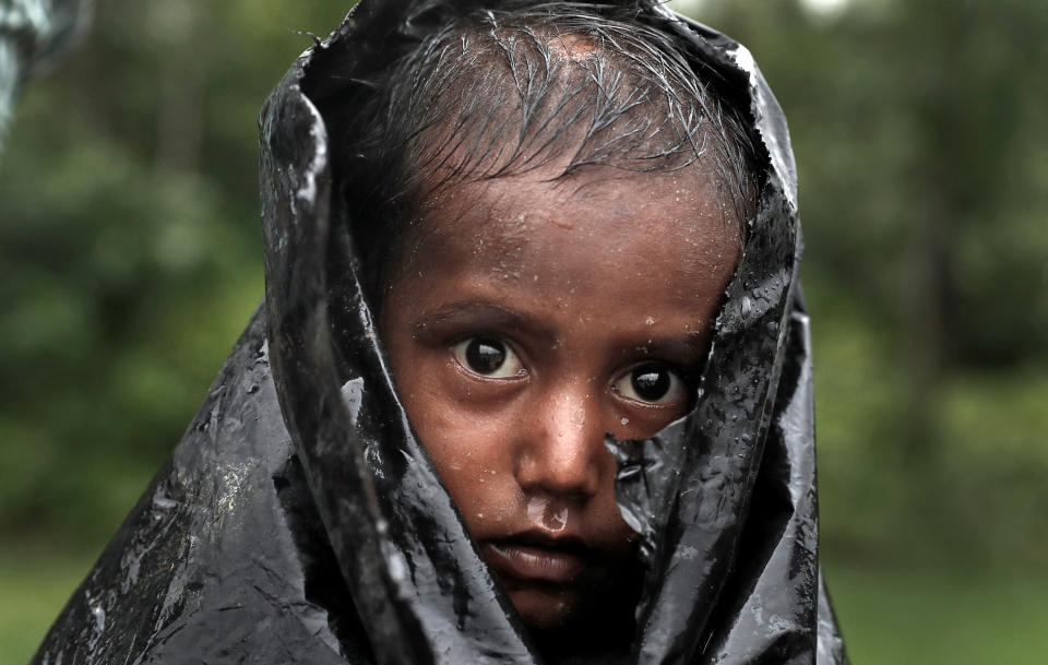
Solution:
{"label": "child's closed lips below the nose", "polygon": [[568,541],[538,542],[525,536],[489,541],[483,545],[481,553],[497,572],[519,581],[567,584],[590,563],[587,549]]}

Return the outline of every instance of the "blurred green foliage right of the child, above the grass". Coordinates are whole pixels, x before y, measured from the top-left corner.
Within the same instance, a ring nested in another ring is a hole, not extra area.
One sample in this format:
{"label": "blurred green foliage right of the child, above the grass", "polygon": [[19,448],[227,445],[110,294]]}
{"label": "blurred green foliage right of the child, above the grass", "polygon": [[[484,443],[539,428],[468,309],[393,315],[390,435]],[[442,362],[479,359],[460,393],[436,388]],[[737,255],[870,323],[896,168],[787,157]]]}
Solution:
{"label": "blurred green foliage right of the child, above the grass", "polygon": [[1048,572],[1048,4],[681,4],[789,118],[826,557]]}

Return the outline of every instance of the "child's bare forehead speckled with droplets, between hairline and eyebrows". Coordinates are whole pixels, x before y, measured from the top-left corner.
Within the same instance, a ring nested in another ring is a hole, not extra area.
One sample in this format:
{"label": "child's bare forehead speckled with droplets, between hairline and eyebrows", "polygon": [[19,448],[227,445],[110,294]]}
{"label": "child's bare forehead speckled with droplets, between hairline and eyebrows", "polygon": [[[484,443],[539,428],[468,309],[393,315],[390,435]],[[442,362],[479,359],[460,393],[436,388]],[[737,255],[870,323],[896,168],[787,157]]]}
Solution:
{"label": "child's bare forehead speckled with droplets, between hairline and eyebrows", "polygon": [[687,304],[719,296],[740,252],[740,224],[719,181],[692,165],[669,174],[556,167],[449,186],[421,210],[406,269],[498,284],[536,298]]}

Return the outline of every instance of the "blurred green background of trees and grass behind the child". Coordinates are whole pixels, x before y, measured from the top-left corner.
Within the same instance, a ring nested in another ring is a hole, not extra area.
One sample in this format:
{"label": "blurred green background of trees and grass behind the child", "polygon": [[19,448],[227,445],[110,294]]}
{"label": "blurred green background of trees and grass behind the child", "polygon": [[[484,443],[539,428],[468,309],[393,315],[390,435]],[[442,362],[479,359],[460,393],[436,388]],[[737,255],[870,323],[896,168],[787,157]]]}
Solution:
{"label": "blurred green background of trees and grass behind the child", "polygon": [[[1048,663],[1048,2],[704,0],[790,120],[857,664]],[[255,117],[347,3],[102,0],[0,161],[0,664],[261,300]]]}

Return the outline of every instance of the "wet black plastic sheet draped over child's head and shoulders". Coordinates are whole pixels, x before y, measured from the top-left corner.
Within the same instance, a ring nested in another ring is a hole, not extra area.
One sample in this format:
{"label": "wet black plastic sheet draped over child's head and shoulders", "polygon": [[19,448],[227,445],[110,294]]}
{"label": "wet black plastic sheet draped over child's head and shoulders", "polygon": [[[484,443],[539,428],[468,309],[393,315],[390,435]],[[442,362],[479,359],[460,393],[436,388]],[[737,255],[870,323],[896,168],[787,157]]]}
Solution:
{"label": "wet black plastic sheet draped over child's head and shoulders", "polygon": [[[312,96],[336,56],[380,62],[386,36],[419,29],[403,22],[415,4],[365,0],[266,103],[265,304],[36,663],[539,662],[413,434],[353,238],[333,224]],[[607,442],[647,570],[630,660],[845,663],[819,569],[785,119],[745,48],[638,7],[749,99],[770,187],[695,411],[650,440]]]}

